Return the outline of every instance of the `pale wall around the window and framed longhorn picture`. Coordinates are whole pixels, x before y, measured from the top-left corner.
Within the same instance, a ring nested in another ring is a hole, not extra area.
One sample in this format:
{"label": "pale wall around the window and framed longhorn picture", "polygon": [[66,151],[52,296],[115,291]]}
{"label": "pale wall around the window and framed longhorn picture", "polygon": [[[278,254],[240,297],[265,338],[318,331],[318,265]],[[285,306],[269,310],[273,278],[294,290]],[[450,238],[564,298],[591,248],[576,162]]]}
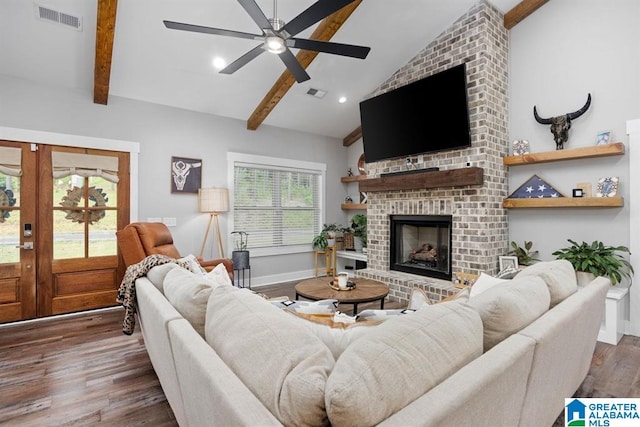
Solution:
{"label": "pale wall around the window and framed longhorn picture", "polygon": [[[347,150],[342,141],[269,126],[246,130],[244,121],[110,97],[93,103],[91,93],[58,91],[0,76],[0,127],[120,139],[140,143],[139,219],[175,217],[172,228],[181,253],[198,254],[209,219],[198,213],[197,196],[171,194],[171,156],[203,159],[202,185],[227,186],[227,151],[308,160],[327,164],[327,222],[344,222],[340,210]],[[223,236],[227,216],[220,215]],[[225,241],[225,255],[232,247]],[[311,250],[311,245],[309,245]],[[209,236],[205,258],[217,257]],[[311,253],[252,258],[252,284],[296,280],[313,273]]]}

